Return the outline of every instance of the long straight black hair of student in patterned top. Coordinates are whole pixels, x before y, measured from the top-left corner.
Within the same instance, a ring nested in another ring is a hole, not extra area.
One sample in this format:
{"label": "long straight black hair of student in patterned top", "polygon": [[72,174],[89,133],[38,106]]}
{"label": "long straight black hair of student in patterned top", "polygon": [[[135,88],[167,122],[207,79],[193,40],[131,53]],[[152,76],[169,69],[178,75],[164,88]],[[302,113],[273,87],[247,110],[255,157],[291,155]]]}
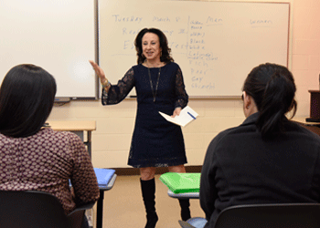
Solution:
{"label": "long straight black hair of student in patterned top", "polygon": [[11,68],[0,88],[0,132],[15,138],[36,134],[48,119],[56,90],[55,79],[41,67]]}

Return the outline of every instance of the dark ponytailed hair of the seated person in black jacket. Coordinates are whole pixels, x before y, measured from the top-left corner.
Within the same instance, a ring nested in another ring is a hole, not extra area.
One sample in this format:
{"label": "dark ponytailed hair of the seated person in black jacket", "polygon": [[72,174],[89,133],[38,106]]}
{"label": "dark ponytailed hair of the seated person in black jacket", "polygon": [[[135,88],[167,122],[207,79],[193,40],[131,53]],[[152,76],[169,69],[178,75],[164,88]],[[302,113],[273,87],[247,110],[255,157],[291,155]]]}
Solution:
{"label": "dark ponytailed hair of the seated person in black jacket", "polygon": [[295,115],[296,88],[287,67],[270,63],[254,67],[244,82],[243,91],[254,99],[259,110],[256,124],[262,137],[268,138],[274,132],[283,131],[287,112],[293,110]]}

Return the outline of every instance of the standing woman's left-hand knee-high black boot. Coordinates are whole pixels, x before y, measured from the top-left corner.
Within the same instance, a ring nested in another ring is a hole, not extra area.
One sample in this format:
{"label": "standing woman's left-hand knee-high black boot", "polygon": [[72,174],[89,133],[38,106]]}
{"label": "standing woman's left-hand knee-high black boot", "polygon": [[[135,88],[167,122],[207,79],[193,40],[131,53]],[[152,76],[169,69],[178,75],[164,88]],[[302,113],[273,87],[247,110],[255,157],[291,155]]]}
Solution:
{"label": "standing woman's left-hand knee-high black boot", "polygon": [[158,222],[158,215],[155,212],[155,178],[149,181],[140,179],[140,183],[146,212],[146,224],[144,228],[155,228],[155,224]]}

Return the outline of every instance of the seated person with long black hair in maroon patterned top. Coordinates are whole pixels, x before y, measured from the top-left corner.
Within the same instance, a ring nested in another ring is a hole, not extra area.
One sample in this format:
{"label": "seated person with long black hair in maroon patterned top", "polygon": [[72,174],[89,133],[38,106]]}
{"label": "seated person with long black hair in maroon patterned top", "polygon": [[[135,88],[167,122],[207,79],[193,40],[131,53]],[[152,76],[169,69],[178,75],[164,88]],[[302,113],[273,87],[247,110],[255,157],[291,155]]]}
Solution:
{"label": "seated person with long black hair in maroon patterned top", "polygon": [[0,88],[0,190],[51,193],[68,214],[96,202],[99,187],[80,138],[43,128],[56,90],[41,67],[18,65],[6,74]]}

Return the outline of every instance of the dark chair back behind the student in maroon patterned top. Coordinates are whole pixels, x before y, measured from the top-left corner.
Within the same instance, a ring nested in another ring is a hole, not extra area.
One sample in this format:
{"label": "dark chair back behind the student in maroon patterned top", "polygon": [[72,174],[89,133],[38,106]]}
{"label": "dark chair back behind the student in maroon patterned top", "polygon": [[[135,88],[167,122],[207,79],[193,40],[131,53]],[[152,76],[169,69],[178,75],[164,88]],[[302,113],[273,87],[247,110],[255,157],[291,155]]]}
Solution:
{"label": "dark chair back behind the student in maroon patterned top", "polygon": [[73,213],[78,224],[71,226],[72,222],[64,213],[58,198],[48,192],[0,191],[1,228],[80,227],[84,212]]}

